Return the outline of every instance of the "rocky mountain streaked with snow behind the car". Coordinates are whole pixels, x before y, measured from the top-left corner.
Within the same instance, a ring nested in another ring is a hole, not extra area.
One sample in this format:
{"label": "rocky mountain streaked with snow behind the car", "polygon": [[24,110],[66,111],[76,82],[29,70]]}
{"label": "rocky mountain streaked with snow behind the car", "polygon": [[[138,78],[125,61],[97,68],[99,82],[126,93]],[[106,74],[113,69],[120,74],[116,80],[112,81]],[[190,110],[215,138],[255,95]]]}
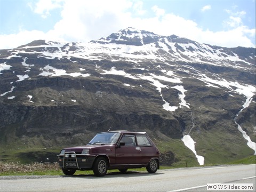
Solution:
{"label": "rocky mountain streaked with snow behind the car", "polygon": [[173,154],[169,163],[254,154],[255,60],[254,48],[134,28],[0,50],[1,145],[83,145],[111,127],[147,131]]}

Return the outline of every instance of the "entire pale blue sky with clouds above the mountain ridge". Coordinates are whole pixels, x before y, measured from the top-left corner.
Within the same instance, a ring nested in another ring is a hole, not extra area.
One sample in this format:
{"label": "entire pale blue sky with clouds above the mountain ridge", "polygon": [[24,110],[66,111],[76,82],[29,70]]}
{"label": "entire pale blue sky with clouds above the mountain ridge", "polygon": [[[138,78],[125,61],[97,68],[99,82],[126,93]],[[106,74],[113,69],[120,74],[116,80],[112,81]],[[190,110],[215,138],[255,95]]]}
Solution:
{"label": "entire pale blue sky with clouds above the mountain ridge", "polygon": [[255,0],[0,0],[0,49],[36,39],[89,42],[127,27],[255,47]]}

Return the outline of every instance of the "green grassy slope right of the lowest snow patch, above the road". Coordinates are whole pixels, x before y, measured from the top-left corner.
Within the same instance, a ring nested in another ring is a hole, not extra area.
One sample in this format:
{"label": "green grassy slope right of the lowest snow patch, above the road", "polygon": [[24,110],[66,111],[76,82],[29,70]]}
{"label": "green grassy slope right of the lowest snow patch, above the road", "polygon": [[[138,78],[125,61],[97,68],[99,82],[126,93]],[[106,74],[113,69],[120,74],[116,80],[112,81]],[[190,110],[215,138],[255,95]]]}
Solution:
{"label": "green grassy slope right of the lowest snow patch, above the road", "polygon": [[242,134],[234,134],[238,130],[201,131],[199,134],[192,132],[191,137],[196,141],[197,155],[204,157],[204,165],[229,164],[254,154],[249,148]]}

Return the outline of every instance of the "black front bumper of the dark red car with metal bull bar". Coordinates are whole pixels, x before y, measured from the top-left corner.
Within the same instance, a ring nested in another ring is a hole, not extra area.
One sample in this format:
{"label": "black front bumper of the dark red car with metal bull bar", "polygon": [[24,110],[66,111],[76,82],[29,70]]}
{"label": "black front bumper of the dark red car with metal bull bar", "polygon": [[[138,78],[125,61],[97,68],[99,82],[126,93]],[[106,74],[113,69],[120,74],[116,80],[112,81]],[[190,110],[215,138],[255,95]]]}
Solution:
{"label": "black front bumper of the dark red car with metal bull bar", "polygon": [[95,159],[95,155],[81,155],[76,154],[74,151],[68,151],[63,155],[57,156],[60,167],[76,170],[91,169]]}

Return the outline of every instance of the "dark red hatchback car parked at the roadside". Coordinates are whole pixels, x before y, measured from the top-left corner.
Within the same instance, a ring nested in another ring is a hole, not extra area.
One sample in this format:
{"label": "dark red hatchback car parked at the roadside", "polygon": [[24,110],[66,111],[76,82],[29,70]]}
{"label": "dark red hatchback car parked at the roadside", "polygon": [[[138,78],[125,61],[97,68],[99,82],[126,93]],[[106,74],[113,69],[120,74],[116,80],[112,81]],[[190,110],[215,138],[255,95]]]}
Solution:
{"label": "dark red hatchback car parked at the roadside", "polygon": [[58,161],[66,175],[73,175],[76,170],[93,170],[100,177],[110,169],[125,172],[146,167],[149,173],[155,173],[159,155],[146,132],[109,131],[95,135],[86,146],[62,149]]}

